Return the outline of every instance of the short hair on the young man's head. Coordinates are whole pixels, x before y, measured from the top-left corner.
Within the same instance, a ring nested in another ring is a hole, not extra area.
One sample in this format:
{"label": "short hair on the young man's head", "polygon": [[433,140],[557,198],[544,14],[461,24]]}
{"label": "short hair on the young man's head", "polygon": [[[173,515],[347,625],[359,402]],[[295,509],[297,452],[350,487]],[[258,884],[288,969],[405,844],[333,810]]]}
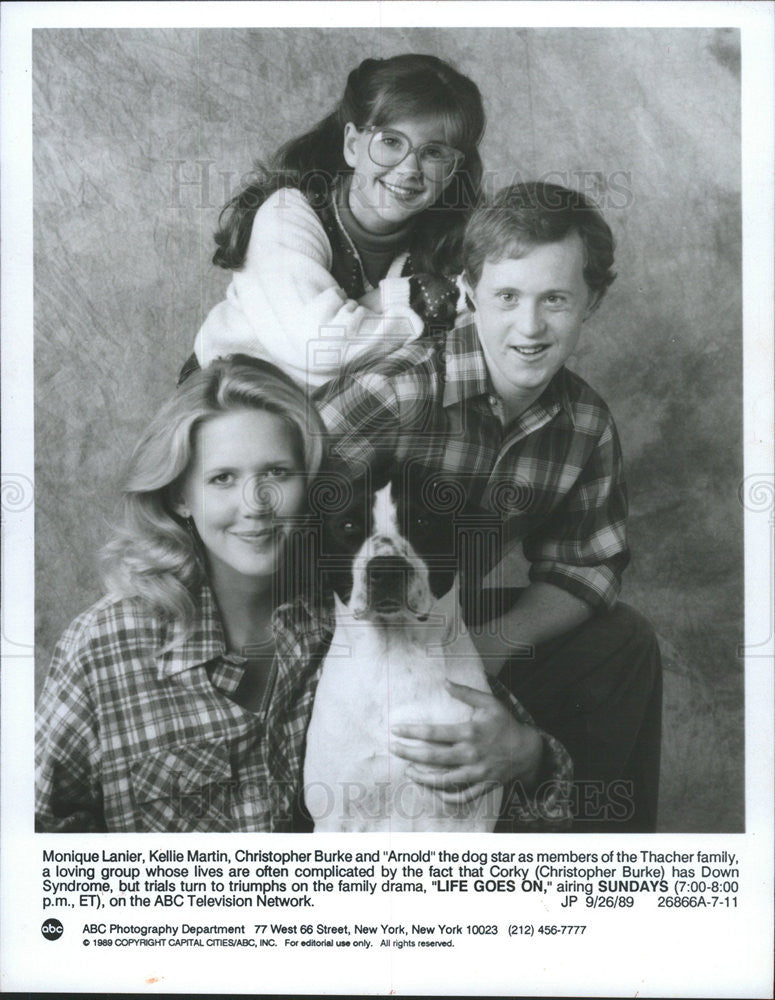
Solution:
{"label": "short hair on the young man's head", "polygon": [[573,232],[584,245],[587,287],[602,298],[616,277],[610,226],[583,194],[542,181],[501,188],[474,209],[463,239],[466,277],[475,288],[486,260],[521,257],[532,247],[558,243]]}

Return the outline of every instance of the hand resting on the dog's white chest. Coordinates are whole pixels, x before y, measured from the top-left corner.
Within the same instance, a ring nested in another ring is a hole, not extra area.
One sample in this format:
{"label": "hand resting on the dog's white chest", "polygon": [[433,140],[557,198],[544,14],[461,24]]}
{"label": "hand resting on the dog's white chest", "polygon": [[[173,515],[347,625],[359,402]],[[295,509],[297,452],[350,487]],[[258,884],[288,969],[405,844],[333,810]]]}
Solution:
{"label": "hand resting on the dog's white chest", "polygon": [[437,789],[446,802],[472,802],[496,785],[514,780],[526,789],[532,787],[543,752],[538,730],[517,722],[489,692],[452,681],[446,685],[453,698],[472,706],[473,718],[392,726],[391,750],[410,761],[407,777]]}

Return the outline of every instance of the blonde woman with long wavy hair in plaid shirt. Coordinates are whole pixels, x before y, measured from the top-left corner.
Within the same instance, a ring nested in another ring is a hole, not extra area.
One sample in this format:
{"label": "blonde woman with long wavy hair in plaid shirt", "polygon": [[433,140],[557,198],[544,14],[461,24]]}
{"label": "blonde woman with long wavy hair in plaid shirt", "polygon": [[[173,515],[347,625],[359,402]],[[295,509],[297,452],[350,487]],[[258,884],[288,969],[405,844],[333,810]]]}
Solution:
{"label": "blonde woman with long wavy hair in plaid shirt", "polygon": [[321,636],[288,603],[323,431],[279,370],[194,372],[130,463],[108,593],[62,637],[37,727],[47,831],[287,830]]}

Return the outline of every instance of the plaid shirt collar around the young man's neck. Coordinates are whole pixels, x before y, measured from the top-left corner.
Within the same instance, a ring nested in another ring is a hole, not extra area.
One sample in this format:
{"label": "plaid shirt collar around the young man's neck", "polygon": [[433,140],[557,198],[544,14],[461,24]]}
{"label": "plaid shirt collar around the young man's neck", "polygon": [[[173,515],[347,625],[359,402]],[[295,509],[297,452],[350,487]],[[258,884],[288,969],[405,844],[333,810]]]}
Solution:
{"label": "plaid shirt collar around the young man's neck", "polygon": [[[442,405],[445,408],[467,399],[495,393],[479,343],[476,318],[472,313],[464,314],[458,325],[447,334],[444,366],[446,377]],[[520,415],[519,420],[527,424],[534,423],[536,419],[543,422],[547,416],[553,416],[560,409],[575,423],[565,367],[557,372],[538,399]]]}

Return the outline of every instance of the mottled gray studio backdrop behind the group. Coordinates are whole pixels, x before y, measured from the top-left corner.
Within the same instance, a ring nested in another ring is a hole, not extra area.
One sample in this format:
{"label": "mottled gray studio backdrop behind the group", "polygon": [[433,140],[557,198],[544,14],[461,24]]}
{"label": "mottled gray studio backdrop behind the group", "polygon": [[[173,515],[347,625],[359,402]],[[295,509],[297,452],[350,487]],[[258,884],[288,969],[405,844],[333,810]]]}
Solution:
{"label": "mottled gray studio backdrop behind the group", "polygon": [[726,29],[36,31],[38,680],[100,595],[128,450],[225,292],[223,201],[362,58],[435,53],[481,88],[490,188],[582,188],[615,232],[619,277],[571,367],[621,431],[623,598],[665,657],[660,827],[741,830],[738,45]]}

